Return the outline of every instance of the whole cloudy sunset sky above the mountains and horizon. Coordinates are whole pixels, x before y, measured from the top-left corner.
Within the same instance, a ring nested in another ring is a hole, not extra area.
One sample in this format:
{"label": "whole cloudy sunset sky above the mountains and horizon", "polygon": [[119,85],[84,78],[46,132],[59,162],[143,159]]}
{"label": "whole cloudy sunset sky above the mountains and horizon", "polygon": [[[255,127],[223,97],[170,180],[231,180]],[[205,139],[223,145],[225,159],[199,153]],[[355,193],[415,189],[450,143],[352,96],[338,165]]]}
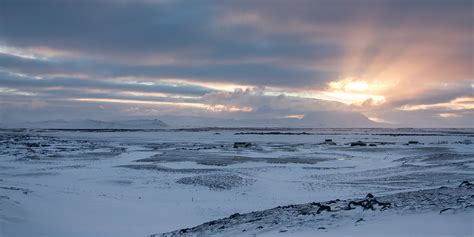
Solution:
{"label": "whole cloudy sunset sky above the mountains and horizon", "polygon": [[474,127],[472,0],[0,0],[0,123]]}

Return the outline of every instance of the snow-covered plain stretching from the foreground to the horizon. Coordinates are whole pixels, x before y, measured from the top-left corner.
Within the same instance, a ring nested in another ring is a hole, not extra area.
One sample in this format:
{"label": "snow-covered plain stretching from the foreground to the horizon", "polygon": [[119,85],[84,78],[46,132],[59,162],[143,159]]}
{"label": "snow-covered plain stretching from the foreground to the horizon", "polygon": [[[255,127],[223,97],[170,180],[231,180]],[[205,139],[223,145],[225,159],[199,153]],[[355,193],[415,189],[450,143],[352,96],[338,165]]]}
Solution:
{"label": "snow-covered plain stretching from the foreground to the horizon", "polygon": [[[473,189],[458,187],[474,180],[471,141],[473,129],[2,130],[0,236],[472,236]],[[368,193],[391,207],[199,229]]]}

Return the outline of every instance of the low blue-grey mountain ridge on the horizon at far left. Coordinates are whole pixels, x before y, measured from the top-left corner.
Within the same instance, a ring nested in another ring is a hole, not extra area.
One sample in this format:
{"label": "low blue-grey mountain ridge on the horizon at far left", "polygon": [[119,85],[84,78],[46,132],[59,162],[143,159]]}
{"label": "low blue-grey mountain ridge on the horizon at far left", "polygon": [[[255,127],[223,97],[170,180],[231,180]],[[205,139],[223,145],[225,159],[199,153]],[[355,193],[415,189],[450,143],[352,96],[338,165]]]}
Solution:
{"label": "low blue-grey mountain ridge on the horizon at far left", "polygon": [[158,119],[137,119],[123,121],[84,120],[48,120],[41,122],[23,122],[4,124],[4,128],[45,128],[45,129],[158,129],[168,125]]}

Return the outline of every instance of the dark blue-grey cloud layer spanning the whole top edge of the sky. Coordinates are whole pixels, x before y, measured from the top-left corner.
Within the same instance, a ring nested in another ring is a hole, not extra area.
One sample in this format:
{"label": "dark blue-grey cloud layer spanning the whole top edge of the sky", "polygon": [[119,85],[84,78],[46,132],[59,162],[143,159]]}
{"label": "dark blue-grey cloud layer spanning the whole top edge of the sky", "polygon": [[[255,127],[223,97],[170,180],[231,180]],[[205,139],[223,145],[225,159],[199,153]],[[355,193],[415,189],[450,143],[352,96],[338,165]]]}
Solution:
{"label": "dark blue-grey cloud layer spanning the whole top edge of the sky", "polygon": [[[454,1],[5,1],[0,40],[18,47],[140,57],[316,57],[339,45],[316,45],[288,29],[291,22],[345,31],[376,21],[380,28],[422,26],[471,29],[472,2]],[[219,25],[232,12],[256,12],[280,27],[262,34],[247,26]],[[439,17],[442,15],[443,17]],[[287,31],[285,33],[285,31]],[[319,34],[327,34],[322,31]],[[317,35],[318,36],[318,35]],[[324,35],[319,35],[324,38]],[[261,47],[261,42],[269,42]],[[322,49],[324,48],[324,49]],[[326,53],[324,53],[326,54]]]}

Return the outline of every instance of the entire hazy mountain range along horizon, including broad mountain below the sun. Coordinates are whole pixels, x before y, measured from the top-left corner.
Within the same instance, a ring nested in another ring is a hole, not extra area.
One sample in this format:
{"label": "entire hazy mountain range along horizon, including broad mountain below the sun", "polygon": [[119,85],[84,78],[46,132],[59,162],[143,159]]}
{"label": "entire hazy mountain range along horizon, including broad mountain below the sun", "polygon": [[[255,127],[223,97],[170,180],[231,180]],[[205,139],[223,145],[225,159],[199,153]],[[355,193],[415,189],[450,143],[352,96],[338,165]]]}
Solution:
{"label": "entire hazy mountain range along horizon, including broad mountain below the sun", "polygon": [[351,111],[318,111],[301,118],[216,118],[199,116],[164,115],[159,119],[134,119],[118,121],[47,120],[0,124],[0,128],[43,129],[160,129],[189,127],[287,127],[287,128],[368,128],[380,127],[361,113]]}

